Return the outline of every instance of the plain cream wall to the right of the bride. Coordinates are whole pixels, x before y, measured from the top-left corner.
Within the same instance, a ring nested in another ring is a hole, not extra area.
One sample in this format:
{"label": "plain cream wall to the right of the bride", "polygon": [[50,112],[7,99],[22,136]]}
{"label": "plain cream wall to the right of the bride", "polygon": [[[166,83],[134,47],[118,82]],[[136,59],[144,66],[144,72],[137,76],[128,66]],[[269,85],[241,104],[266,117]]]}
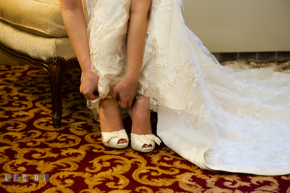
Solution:
{"label": "plain cream wall to the right of the bride", "polygon": [[290,51],[290,0],[183,0],[185,24],[211,52]]}

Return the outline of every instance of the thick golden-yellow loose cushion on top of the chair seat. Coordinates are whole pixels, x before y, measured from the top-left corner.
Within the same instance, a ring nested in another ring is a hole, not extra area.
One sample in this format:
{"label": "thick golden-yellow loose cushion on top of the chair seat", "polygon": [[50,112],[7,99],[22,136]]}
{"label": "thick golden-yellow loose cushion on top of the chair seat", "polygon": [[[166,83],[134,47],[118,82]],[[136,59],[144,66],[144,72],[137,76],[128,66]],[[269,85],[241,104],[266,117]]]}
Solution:
{"label": "thick golden-yellow loose cushion on top of the chair seat", "polygon": [[68,37],[59,0],[0,0],[0,19],[31,34]]}

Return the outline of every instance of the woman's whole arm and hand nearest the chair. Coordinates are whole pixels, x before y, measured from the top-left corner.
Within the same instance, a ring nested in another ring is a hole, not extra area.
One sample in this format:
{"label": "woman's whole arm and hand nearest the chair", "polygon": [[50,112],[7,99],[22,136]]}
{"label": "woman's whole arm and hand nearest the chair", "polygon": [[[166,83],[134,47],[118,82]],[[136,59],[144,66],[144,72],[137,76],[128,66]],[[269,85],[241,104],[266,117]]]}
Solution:
{"label": "woman's whole arm and hand nearest the chair", "polygon": [[94,91],[98,89],[99,77],[91,71],[91,54],[87,36],[87,24],[82,7],[82,0],[60,0],[60,10],[69,40],[82,69],[80,92],[87,100],[95,100],[98,96]]}

